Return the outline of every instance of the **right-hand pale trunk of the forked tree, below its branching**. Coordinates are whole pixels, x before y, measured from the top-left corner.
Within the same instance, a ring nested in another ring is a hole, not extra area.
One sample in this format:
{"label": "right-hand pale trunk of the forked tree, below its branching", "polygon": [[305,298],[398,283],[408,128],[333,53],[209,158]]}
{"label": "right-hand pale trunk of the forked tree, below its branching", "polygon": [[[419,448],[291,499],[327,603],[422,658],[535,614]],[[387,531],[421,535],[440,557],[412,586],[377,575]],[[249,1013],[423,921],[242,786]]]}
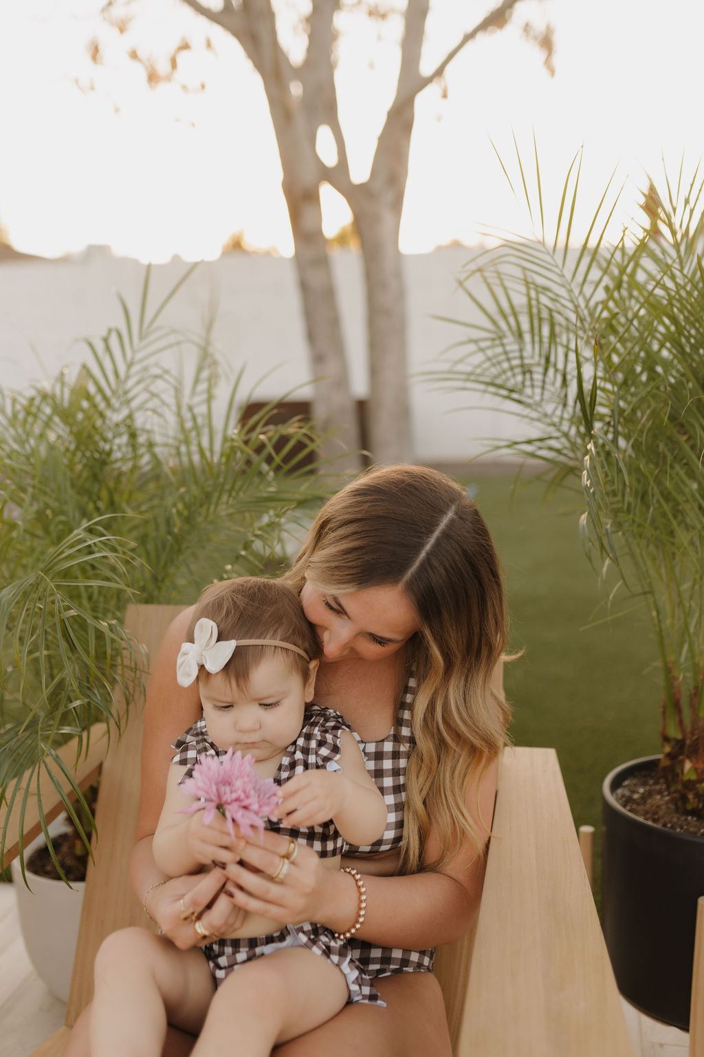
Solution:
{"label": "right-hand pale trunk of the forked tree, below its branching", "polygon": [[397,209],[376,196],[365,196],[355,211],[366,284],[369,448],[374,462],[381,465],[413,459],[405,290],[396,217]]}

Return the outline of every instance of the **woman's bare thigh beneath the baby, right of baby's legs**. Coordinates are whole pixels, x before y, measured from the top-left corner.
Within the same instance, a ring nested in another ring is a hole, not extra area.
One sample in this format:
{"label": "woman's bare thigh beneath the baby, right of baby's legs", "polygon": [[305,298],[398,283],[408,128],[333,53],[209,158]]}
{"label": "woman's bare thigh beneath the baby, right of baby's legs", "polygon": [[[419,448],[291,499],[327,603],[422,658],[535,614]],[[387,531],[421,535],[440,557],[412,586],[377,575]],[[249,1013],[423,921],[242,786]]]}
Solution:
{"label": "woman's bare thigh beneath the baby, right of baby's legs", "polygon": [[358,1002],[274,1057],[451,1057],[440,985],[432,972],[395,972],[374,984],[386,1008]]}

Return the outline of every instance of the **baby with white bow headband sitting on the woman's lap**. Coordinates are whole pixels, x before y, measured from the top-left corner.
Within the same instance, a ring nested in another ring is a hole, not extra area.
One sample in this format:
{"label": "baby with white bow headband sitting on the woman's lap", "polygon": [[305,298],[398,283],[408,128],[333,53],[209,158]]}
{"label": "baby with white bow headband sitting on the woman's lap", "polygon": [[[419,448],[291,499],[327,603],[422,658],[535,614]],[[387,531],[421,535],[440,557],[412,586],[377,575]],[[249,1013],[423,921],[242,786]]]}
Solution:
{"label": "baby with white bow headband sitting on the woman's lap", "polygon": [[[188,686],[197,679],[203,717],[174,743],[154,836],[161,870],[180,876],[237,858],[230,820],[205,804],[202,810],[191,792],[198,791],[189,782],[194,764],[209,758],[227,757],[240,772],[253,765],[256,778],[280,786],[270,811],[275,817],[266,824],[289,840],[273,880],[285,884],[296,869],[297,840],[338,869],[347,843],[380,837],[386,806],[349,725],[311,704],[319,647],[296,593],[279,580],[254,577],[214,583],[198,599],[188,637],[177,680]],[[232,753],[251,760],[233,760]],[[364,888],[349,872],[361,908]],[[193,920],[183,901],[182,909],[185,920]],[[193,927],[205,958],[198,948],[178,950],[144,929],[106,941],[96,960],[94,1057],[158,1057],[167,1022],[199,1033],[195,1055],[268,1057],[274,1045],[317,1027],[347,1001],[383,1005],[345,940],[323,926],[282,929],[247,914],[232,937],[208,935],[198,919]]]}

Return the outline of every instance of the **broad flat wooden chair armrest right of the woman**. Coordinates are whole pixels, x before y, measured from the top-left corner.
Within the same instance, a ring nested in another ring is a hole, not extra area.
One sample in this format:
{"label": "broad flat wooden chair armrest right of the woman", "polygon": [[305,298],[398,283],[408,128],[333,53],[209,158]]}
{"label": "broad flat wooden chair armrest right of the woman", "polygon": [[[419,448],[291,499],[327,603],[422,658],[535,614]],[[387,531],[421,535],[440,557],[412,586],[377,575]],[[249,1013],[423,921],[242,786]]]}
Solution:
{"label": "broad flat wooden chair armrest right of the woman", "polygon": [[456,1053],[632,1057],[557,757],[506,749]]}

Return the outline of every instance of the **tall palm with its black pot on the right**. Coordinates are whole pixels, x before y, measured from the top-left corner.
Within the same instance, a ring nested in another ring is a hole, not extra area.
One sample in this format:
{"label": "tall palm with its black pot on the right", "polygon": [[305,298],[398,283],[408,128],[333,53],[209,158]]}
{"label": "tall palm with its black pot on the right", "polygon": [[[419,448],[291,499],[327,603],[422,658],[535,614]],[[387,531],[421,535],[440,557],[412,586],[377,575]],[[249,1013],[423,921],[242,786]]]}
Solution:
{"label": "tall palm with its black pot on the right", "polygon": [[604,783],[604,929],[622,994],[686,1030],[704,894],[704,188],[665,173],[615,239],[607,189],[573,247],[581,155],[550,235],[537,154],[535,194],[518,165],[540,229],[468,266],[474,318],[432,377],[512,409],[520,425],[500,447],[550,486],[581,481],[595,571],[612,597],[647,607],[662,755]]}

